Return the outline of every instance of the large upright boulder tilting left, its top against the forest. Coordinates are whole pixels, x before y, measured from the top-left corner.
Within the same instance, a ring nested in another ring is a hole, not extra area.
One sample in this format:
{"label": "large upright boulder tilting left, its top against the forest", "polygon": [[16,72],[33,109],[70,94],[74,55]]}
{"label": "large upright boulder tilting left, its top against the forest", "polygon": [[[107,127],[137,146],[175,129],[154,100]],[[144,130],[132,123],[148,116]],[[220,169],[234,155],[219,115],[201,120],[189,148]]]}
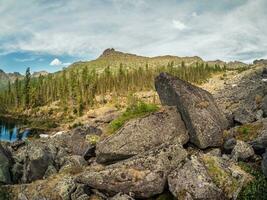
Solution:
{"label": "large upright boulder tilting left, its top against the forest", "polygon": [[228,123],[209,92],[167,73],[156,77],[155,86],[163,105],[177,106],[191,143],[201,149],[222,144]]}

